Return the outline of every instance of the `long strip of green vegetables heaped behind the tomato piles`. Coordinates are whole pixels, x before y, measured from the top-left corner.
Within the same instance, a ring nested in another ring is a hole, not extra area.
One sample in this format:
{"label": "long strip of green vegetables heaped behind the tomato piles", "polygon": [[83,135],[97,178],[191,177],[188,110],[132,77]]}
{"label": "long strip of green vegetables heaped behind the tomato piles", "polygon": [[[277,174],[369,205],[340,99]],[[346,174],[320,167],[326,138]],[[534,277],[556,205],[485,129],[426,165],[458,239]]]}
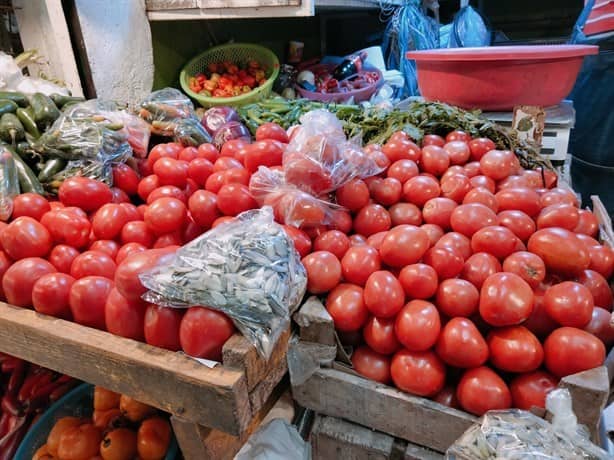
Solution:
{"label": "long strip of green vegetables heaped behind the tomato piles", "polygon": [[466,111],[439,102],[414,101],[407,110],[382,110],[377,107],[327,104],[307,99],[273,98],[243,106],[239,115],[252,133],[266,122],[275,122],[287,129],[299,123],[301,115],[315,109],[327,109],[343,122],[349,138],[361,136],[365,144],[383,144],[396,131],[405,131],[416,142],[426,134],[445,137],[455,129],[472,137],[488,137],[497,148],[513,150],[524,168],[552,169],[547,159],[539,155],[539,147],[518,139],[513,130],[493,123],[479,111]]}

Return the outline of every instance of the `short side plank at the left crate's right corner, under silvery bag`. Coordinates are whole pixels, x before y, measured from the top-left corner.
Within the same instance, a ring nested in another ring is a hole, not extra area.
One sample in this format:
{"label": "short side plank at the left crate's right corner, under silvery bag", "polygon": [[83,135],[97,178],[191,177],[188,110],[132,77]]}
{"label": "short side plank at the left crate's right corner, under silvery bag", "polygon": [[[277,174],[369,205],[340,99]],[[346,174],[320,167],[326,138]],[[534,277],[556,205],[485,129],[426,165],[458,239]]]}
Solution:
{"label": "short side plank at the left crate's right corner, under silvery bag", "polygon": [[290,329],[288,328],[279,337],[271,356],[266,360],[258,354],[256,347],[245,337],[235,334],[224,344],[222,350],[224,367],[245,372],[247,389],[252,391],[272,369],[285,365],[281,363],[286,362],[289,338]]}

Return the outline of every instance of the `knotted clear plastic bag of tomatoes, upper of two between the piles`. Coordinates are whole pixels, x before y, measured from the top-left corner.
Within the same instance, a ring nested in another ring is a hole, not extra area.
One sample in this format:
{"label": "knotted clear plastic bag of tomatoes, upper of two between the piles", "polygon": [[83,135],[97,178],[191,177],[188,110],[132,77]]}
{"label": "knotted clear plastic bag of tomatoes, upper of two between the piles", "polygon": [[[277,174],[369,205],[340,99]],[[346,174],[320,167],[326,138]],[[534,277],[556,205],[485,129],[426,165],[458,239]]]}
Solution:
{"label": "knotted clear plastic bag of tomatoes, upper of two between the piles", "polygon": [[337,117],[327,110],[313,110],[300,118],[283,157],[288,184],[314,196],[337,190],[355,178],[383,171],[360,147],[347,140]]}

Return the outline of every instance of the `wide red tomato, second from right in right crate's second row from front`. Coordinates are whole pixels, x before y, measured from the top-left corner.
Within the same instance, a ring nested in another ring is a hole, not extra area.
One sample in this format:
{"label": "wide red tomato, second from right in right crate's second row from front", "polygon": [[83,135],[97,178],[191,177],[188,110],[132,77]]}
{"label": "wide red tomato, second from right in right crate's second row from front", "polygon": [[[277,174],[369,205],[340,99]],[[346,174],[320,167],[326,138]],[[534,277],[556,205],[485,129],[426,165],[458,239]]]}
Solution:
{"label": "wide red tomato, second from right in right crate's second row from front", "polygon": [[490,362],[506,372],[531,372],[544,359],[537,337],[524,326],[494,329],[488,334]]}

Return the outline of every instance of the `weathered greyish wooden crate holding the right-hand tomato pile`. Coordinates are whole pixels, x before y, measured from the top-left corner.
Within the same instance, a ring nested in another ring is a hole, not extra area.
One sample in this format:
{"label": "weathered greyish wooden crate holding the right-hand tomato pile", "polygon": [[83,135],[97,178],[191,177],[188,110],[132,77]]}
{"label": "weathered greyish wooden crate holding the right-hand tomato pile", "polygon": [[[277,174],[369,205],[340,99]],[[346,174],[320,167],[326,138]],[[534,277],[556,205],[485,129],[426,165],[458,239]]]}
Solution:
{"label": "weathered greyish wooden crate holding the right-hand tomato pile", "polygon": [[[289,354],[292,359],[307,357],[299,364],[314,368],[304,381],[292,383],[292,394],[301,406],[438,452],[445,452],[477,421],[466,412],[361,377],[338,361],[314,366],[308,359],[314,352],[335,356],[336,345],[330,343],[335,337],[332,318],[312,297],[294,319],[300,326],[300,340],[291,344]],[[610,392],[613,363],[611,353],[604,366],[570,375],[559,384],[570,391],[578,421],[589,427],[595,441]]]}

